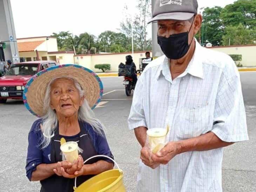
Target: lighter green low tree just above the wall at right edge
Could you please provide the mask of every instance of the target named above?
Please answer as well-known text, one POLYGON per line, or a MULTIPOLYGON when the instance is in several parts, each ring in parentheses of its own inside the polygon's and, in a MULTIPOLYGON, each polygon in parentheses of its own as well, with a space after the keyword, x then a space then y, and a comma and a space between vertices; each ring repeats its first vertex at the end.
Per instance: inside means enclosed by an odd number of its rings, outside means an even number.
POLYGON ((248 29, 245 28, 242 23, 237 26, 228 26, 226 34, 222 37, 223 45, 248 45, 254 44, 256 39, 256 28, 248 29))

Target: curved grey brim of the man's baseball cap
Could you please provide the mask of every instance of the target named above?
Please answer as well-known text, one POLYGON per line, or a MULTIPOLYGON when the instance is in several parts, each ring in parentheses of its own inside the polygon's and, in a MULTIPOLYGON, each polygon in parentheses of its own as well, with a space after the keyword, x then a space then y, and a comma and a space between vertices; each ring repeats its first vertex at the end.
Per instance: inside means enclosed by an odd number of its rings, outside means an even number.
POLYGON ((178 21, 186 21, 191 19, 195 13, 183 13, 183 12, 176 12, 176 13, 163 13, 156 15, 153 17, 149 22, 152 23, 154 21, 159 21, 159 20, 178 20, 178 21))

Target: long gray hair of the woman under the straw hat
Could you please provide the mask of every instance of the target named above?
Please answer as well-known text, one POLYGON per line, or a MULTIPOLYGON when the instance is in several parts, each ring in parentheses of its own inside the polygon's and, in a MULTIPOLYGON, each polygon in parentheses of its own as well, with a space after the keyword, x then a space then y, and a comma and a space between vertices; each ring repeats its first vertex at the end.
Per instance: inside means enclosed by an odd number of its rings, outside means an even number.
MULTIPOLYGON (((43 109, 47 112, 46 112, 46 115, 42 117, 42 119, 43 119, 42 125, 40 126, 42 133, 43 133, 41 143, 40 143, 40 147, 42 149, 46 148, 50 144, 51 138, 54 136, 54 131, 58 125, 58 119, 56 116, 56 112, 50 108, 50 91, 51 91, 52 83, 55 80, 60 79, 60 78, 67 78, 67 79, 72 80, 75 84, 75 87, 79 90, 80 97, 85 96, 85 91, 82 90, 80 84, 76 80, 74 80, 72 77, 57 77, 57 78, 53 79, 52 81, 50 81, 50 83, 48 84, 47 89, 46 89, 44 106, 43 106, 43 109)), ((93 130, 97 134, 99 134, 101 136, 104 135, 103 130, 105 129, 105 127, 100 122, 100 120, 95 117, 95 114, 92 111, 92 109, 90 108, 90 106, 88 105, 88 102, 86 99, 78 110, 78 119, 80 121, 85 121, 90 126, 92 126, 93 130)))

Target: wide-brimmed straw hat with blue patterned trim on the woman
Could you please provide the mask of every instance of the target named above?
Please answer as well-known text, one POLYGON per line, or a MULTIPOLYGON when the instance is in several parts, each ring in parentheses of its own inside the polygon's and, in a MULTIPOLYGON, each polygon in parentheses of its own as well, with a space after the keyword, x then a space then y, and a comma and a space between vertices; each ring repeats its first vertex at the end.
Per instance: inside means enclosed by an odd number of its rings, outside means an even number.
POLYGON ((103 85, 99 76, 79 65, 58 65, 40 71, 25 86, 23 102, 33 115, 37 117, 46 115, 46 111, 43 110, 46 88, 51 80, 58 77, 71 77, 76 80, 85 90, 85 99, 92 109, 100 102, 103 85))

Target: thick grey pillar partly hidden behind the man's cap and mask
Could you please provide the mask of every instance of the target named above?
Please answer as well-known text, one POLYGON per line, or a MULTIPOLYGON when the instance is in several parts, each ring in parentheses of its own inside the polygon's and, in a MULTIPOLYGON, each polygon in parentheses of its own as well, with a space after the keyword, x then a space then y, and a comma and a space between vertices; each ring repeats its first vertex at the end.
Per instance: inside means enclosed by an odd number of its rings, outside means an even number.
MULTIPOLYGON (((151 0, 152 4, 152 15, 155 7, 156 0, 151 0)), ((152 55, 153 57, 160 57, 163 55, 161 47, 157 43, 157 23, 152 23, 152 55)))

